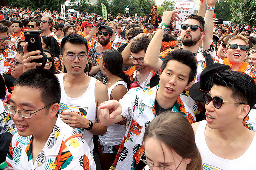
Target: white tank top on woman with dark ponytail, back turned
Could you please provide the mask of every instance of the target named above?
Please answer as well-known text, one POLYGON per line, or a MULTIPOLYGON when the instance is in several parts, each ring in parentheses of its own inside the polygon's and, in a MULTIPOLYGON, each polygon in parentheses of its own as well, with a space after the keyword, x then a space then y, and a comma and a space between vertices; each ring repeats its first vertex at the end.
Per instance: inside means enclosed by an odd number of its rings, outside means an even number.
MULTIPOLYGON (((110 99, 110 94, 111 94, 113 88, 119 84, 124 85, 127 89, 126 82, 124 82, 122 80, 117 81, 115 84, 113 84, 111 87, 108 88, 108 100, 110 99)), ((110 125, 110 126, 108 126, 108 129, 107 129, 107 132, 105 133, 105 135, 103 135, 103 136, 99 135, 99 141, 103 145, 107 145, 107 146, 119 145, 124 138, 125 132, 126 132, 125 124, 124 125, 118 125, 118 124, 110 125)))

